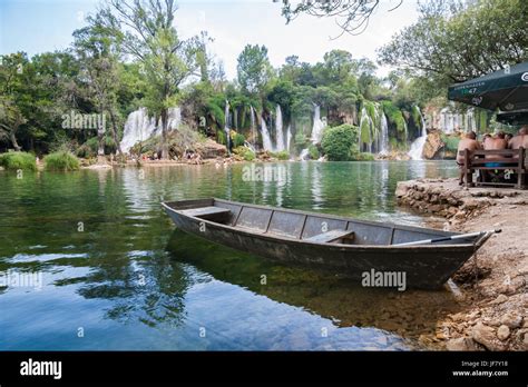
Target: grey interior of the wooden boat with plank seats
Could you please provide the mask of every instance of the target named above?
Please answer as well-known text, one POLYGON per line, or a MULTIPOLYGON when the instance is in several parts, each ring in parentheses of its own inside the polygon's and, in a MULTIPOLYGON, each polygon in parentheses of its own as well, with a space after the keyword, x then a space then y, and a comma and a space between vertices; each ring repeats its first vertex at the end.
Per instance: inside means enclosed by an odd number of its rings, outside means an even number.
MULTIPOLYGON (((390 246, 456 235, 436 229, 364 221, 213 198, 174 201, 166 205, 182 215, 218 225, 317 244, 390 246)), ((473 237, 436 245, 467 245, 475 240, 473 237)))

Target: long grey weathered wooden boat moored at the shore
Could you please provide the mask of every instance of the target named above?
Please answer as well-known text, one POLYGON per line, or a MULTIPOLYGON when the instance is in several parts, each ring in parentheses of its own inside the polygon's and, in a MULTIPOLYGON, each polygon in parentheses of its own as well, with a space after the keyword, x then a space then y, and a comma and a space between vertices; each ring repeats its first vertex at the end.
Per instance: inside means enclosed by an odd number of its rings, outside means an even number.
POLYGON ((365 272, 403 272, 407 287, 439 288, 491 236, 457 239, 456 232, 214 198, 162 205, 186 232, 283 264, 331 270, 360 284, 365 272), (436 238, 441 241, 398 246, 436 238))

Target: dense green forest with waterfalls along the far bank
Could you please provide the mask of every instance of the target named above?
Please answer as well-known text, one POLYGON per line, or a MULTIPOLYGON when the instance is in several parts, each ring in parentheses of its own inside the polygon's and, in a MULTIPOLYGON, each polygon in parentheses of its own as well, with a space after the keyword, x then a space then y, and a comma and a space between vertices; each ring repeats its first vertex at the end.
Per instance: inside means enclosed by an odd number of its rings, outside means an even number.
MULTIPOLYGON (((247 44, 236 79, 227 80, 208 52, 214 37, 179 38, 174 1, 109 0, 74 32, 70 47, 1 56, 0 151, 121 153, 127 117, 140 107, 159 122, 154 142, 162 158, 206 137, 232 149, 307 150, 311 158, 332 153, 341 140, 353 151, 336 151, 335 159, 404 151, 422 133, 421 111, 447 103, 447 86, 527 60, 527 9, 522 0, 421 4, 418 22, 379 49, 378 64, 399 69, 385 78, 375 76, 377 63, 344 50, 317 63, 292 52, 274 68, 273 48, 247 44), (177 133, 169 130, 174 107, 183 122, 177 133), (314 133, 315 120, 330 128, 326 140, 314 133)), ((292 23, 295 13, 316 11, 332 16, 331 9, 283 8, 292 23)), ((479 127, 491 123, 483 113, 479 127)))

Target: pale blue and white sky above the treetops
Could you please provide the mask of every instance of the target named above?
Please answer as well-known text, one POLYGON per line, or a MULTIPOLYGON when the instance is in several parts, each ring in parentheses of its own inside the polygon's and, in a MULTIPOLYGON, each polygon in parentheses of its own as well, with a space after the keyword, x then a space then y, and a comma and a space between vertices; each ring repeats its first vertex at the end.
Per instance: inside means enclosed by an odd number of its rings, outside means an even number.
MULTIPOLYGON (((0 0, 0 54, 26 51, 29 56, 67 48, 71 32, 86 23, 100 0, 0 0)), ((214 39, 209 52, 223 61, 228 79, 236 77, 236 58, 247 43, 265 44, 274 67, 286 57, 315 63, 332 49, 354 58, 377 59, 375 50, 418 19, 417 0, 382 0, 360 36, 340 34, 331 18, 301 16, 290 24, 281 16, 281 1, 273 0, 180 0, 176 28, 182 38, 207 31, 214 39)), ((379 76, 391 69, 380 67, 379 76)))

